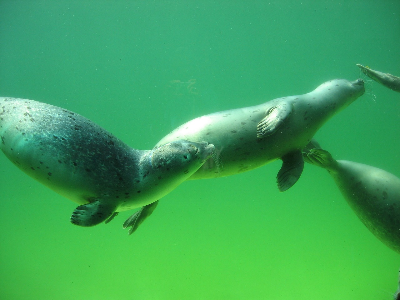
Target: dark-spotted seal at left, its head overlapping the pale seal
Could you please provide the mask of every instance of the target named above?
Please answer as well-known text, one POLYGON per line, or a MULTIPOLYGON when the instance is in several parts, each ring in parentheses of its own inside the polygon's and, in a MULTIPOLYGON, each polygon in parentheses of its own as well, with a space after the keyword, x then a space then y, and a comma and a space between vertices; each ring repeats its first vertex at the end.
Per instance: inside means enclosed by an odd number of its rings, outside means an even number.
POLYGON ((71 216, 80 226, 111 220, 120 211, 155 207, 214 150, 208 142, 187 140, 152 150, 133 149, 79 114, 4 97, 0 136, 1 150, 18 168, 80 204, 71 216))

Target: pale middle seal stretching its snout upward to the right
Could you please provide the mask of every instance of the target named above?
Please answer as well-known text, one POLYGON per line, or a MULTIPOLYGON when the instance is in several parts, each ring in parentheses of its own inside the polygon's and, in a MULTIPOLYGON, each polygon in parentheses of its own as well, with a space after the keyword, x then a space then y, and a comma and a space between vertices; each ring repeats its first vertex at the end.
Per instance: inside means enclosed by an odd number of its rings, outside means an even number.
POLYGON ((277 181, 284 191, 300 177, 304 146, 329 118, 363 93, 362 80, 330 80, 308 94, 201 116, 164 136, 156 147, 182 138, 214 144, 218 159, 207 160, 189 179, 246 172, 280 158, 277 181))

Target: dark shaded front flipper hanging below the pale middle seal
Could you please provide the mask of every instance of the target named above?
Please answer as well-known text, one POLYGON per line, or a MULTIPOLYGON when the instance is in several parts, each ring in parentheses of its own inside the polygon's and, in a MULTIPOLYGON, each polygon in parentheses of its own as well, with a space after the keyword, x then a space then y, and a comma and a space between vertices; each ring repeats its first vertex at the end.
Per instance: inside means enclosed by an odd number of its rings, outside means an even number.
POLYGON ((276 176, 278 189, 280 192, 286 191, 300 178, 304 168, 303 155, 300 150, 290 152, 281 157, 282 168, 276 176))

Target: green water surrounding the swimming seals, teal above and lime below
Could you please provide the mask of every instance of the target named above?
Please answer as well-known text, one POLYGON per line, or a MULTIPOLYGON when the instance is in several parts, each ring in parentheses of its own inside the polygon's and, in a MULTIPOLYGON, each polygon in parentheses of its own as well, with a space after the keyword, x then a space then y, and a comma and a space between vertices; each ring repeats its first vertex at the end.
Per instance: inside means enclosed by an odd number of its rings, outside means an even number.
MULTIPOLYGON (((0 95, 61 106, 150 149, 198 116, 400 76, 399 1, 0 1, 0 95)), ((377 83, 316 134, 400 176, 400 94, 377 83), (374 96, 372 96, 372 94, 374 96)), ((181 184, 128 236, 0 155, 2 300, 389 300, 400 256, 325 170, 278 192, 280 161, 181 184)))

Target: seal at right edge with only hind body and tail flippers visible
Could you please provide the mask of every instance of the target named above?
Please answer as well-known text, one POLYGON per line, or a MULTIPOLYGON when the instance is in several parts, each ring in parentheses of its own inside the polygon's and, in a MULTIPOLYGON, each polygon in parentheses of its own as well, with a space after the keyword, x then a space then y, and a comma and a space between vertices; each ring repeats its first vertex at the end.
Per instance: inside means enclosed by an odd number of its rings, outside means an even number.
POLYGON ((311 149, 304 151, 304 159, 328 170, 361 222, 386 246, 400 253, 400 178, 365 164, 334 160, 315 141, 307 148, 311 149))

